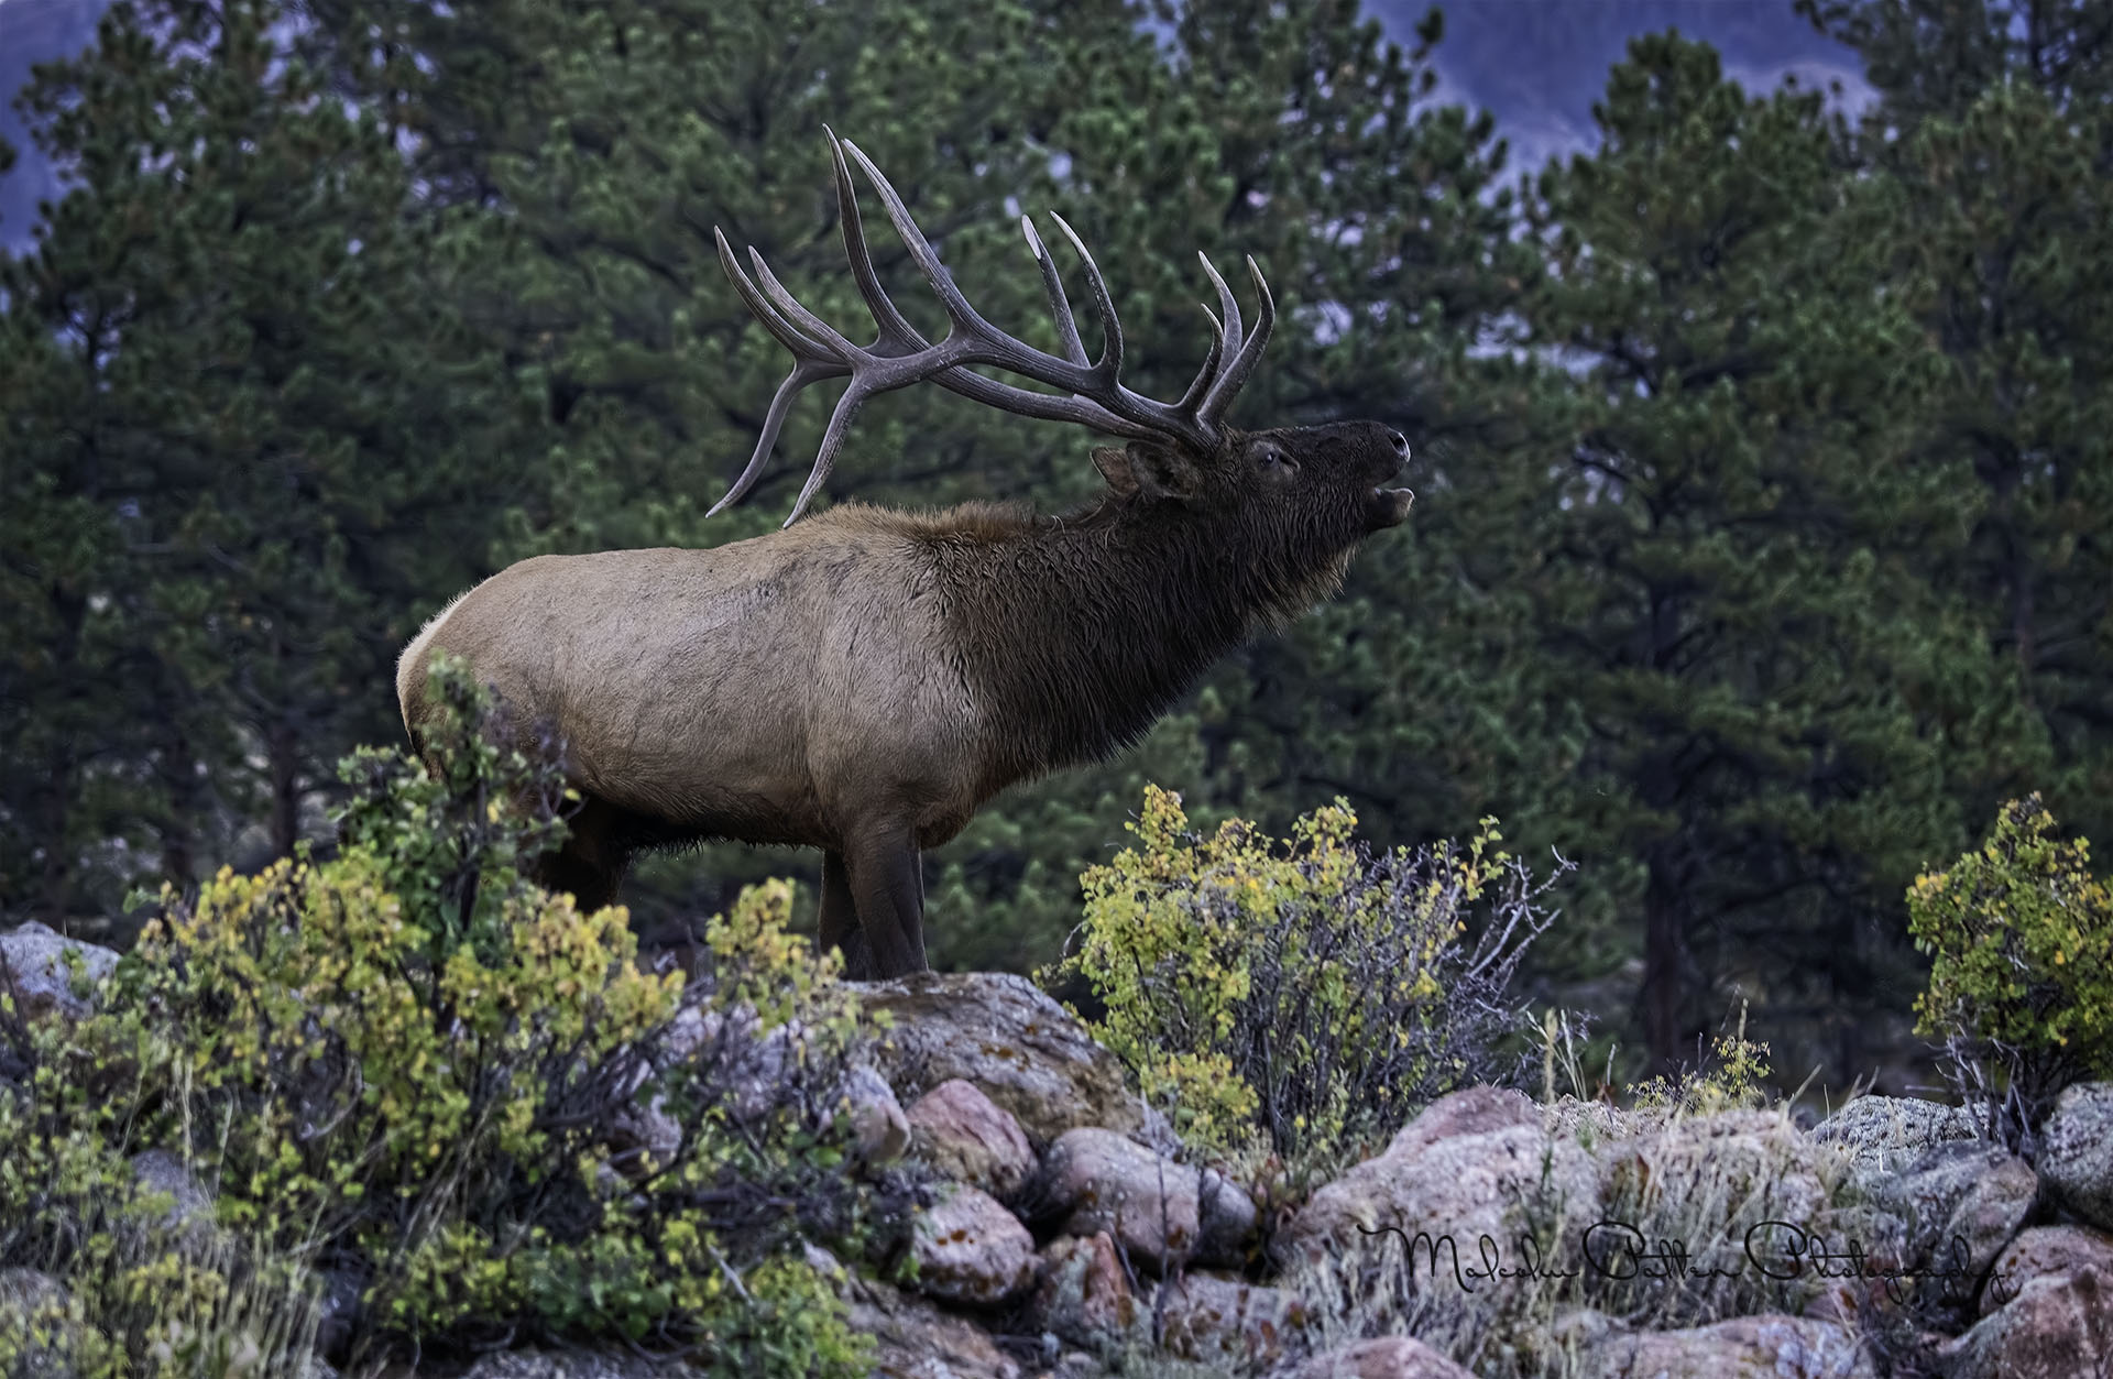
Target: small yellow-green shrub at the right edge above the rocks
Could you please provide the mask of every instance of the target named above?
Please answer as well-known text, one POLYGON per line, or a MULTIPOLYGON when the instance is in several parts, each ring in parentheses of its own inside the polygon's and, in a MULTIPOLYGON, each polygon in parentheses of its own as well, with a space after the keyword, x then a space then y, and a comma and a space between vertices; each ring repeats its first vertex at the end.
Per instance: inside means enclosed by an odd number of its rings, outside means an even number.
POLYGON ((2037 794, 1914 879, 1908 929, 1931 955, 1916 1031, 1950 1045, 1999 1134, 2016 1142, 2064 1085, 2113 1077, 2113 891, 2037 794))

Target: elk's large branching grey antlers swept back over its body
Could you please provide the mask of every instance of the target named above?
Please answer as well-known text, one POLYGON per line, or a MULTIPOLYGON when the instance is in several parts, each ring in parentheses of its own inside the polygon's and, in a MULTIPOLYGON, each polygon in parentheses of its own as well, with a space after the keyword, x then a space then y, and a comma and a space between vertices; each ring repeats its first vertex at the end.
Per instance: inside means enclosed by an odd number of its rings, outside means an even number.
POLYGON ((1264 281, 1261 268, 1255 266, 1253 258, 1247 260, 1247 272, 1255 279, 1261 313, 1255 329, 1242 336, 1240 306, 1232 296, 1232 287, 1217 275, 1209 258, 1202 253, 1196 256, 1217 287, 1219 313, 1223 315, 1213 315, 1204 306, 1204 315, 1211 317, 1211 353, 1196 380, 1181 395, 1181 401, 1171 405, 1152 401, 1122 386, 1118 378, 1122 370, 1122 323, 1116 319, 1116 304, 1109 298, 1101 268, 1092 262, 1092 253, 1086 251, 1086 245, 1071 232, 1063 215, 1052 211, 1050 220, 1071 241, 1071 249, 1078 253, 1080 264, 1084 264, 1092 304, 1101 315, 1101 357, 1092 363, 1086 363, 1086 346, 1078 338, 1078 323, 1071 319, 1071 302, 1065 298, 1056 260, 1050 258, 1048 245, 1035 234, 1035 226, 1027 215, 1021 215, 1021 230, 1027 234, 1027 247, 1042 268, 1042 287, 1056 319, 1056 338, 1065 351, 1063 357, 1014 340, 985 321, 968 304, 968 298, 961 296, 961 289, 953 285, 953 279, 947 277, 938 253, 932 249, 932 241, 911 220, 909 207, 902 205, 902 196, 881 175, 881 169, 849 139, 839 139, 828 129, 824 133, 828 133, 828 152, 837 167, 837 209, 843 222, 843 249, 852 260, 852 277, 858 281, 858 291, 866 300, 866 308, 873 313, 873 321, 881 334, 871 346, 852 344, 835 327, 801 306, 754 247, 748 249, 748 262, 756 272, 752 281, 735 262, 727 237, 716 226, 712 228, 712 239, 718 241, 718 264, 733 279, 733 289, 742 294, 742 302, 763 321, 763 327, 792 351, 794 359, 792 372, 786 374, 786 380, 778 384, 775 397, 771 397, 771 408, 763 418, 763 435, 756 439, 756 452, 748 458, 748 469, 733 481, 727 496, 712 505, 712 513, 740 503, 754 488, 756 477, 763 473, 763 462, 771 454, 771 446, 778 443, 778 431, 784 427, 786 412, 792 410, 792 397, 807 384, 824 378, 849 376, 852 384, 837 399, 837 410, 822 433, 822 448, 814 458, 814 471, 807 475, 807 484, 792 505, 792 515, 784 522, 786 526, 799 522, 799 515, 807 511, 807 503, 822 488, 822 481, 828 479, 828 471, 837 465, 837 450, 843 446, 843 433, 852 424, 852 414, 858 412, 860 403, 875 393, 892 393, 925 378, 961 397, 1018 416, 1082 422, 1097 431, 1137 439, 1179 439, 1198 448, 1211 448, 1219 441, 1226 408, 1240 391, 1240 384, 1247 382, 1255 361, 1261 359, 1261 351, 1270 342, 1270 329, 1276 325, 1276 302, 1270 298, 1270 285, 1264 281), (917 334, 917 327, 896 310, 896 304, 881 289, 881 277, 875 272, 873 256, 866 249, 866 230, 858 215, 858 194, 852 186, 852 169, 845 163, 845 154, 873 182, 873 190, 879 192, 881 205, 887 207, 887 220, 894 224, 896 234, 902 237, 911 258, 917 260, 917 268, 923 270, 932 291, 938 294, 940 304, 947 308, 947 338, 938 344, 917 334), (1232 340, 1238 340, 1238 344, 1228 348, 1232 340), (1010 374, 1059 386, 1069 397, 1016 389, 1008 382, 985 378, 966 367, 972 363, 995 365, 1010 374))

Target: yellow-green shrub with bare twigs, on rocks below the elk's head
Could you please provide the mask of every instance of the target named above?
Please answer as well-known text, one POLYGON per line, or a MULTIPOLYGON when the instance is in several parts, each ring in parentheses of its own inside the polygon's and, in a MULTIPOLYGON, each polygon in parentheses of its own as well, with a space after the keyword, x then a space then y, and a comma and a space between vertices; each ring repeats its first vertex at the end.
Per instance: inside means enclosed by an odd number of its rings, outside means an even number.
POLYGON ((1338 802, 1289 840, 1238 819, 1204 838, 1179 796, 1147 788, 1139 847, 1082 879, 1086 919, 1056 976, 1086 978, 1107 1009, 1097 1037, 1204 1149, 1259 1132, 1287 1161, 1325 1164, 1507 1071, 1507 986, 1553 919, 1538 904, 1553 879, 1494 851, 1494 819, 1464 847, 1384 857, 1354 826, 1338 802))

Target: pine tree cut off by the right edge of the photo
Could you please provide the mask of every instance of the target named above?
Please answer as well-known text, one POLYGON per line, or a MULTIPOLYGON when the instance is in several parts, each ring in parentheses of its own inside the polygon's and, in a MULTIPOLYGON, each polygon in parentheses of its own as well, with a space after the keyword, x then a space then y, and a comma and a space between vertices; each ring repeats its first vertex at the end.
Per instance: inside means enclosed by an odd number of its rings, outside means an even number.
MULTIPOLYGON (((1925 462, 1978 494, 1963 560, 2054 760, 2031 783, 2113 830, 2113 6, 2102 0, 1805 0, 1857 46, 1878 103, 1859 158, 1891 192, 1868 234, 1950 361, 1925 462)), ((2020 762, 2026 764, 2026 762, 2020 762)), ((1976 800, 1986 817, 1988 788, 1976 800)))

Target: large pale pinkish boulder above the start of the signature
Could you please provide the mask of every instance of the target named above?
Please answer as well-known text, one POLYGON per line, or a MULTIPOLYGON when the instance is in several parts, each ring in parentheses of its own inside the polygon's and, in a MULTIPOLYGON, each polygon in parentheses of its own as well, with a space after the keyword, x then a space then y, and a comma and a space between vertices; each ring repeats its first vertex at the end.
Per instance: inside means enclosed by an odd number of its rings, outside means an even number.
POLYGON ((1515 1092, 1469 1088, 1439 1098, 1380 1157, 1316 1191, 1283 1229, 1278 1252, 1325 1263, 1428 1231, 1441 1248, 1450 1235, 1469 1265, 1490 1235, 1515 1265, 1523 1214, 1568 1229, 1600 1197, 1597 1164, 1574 1140, 1549 1136, 1540 1119, 1515 1092))

